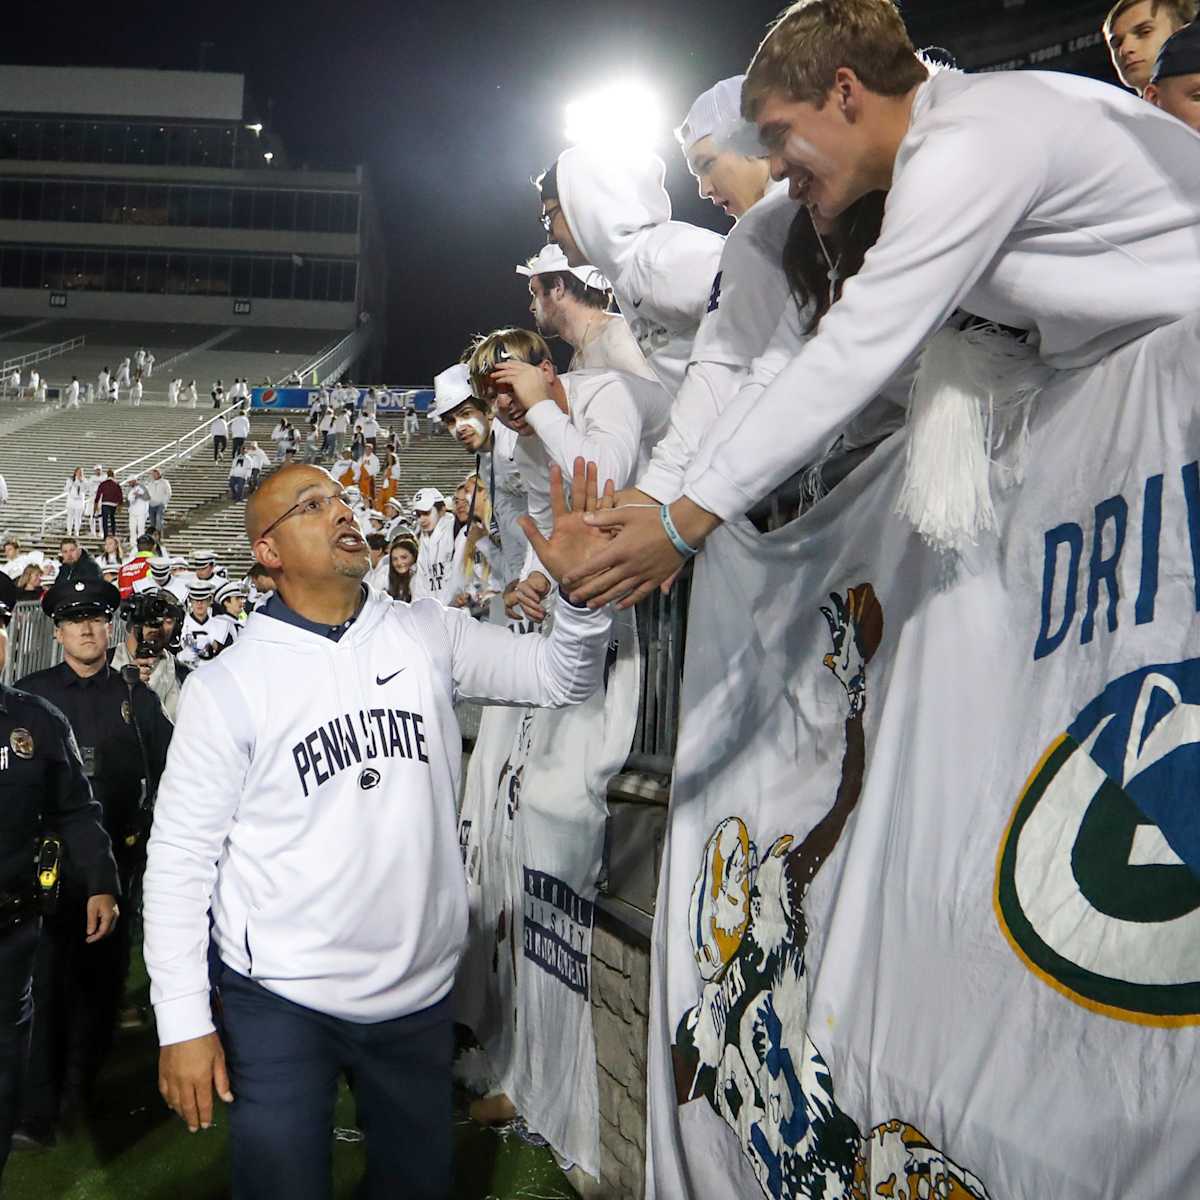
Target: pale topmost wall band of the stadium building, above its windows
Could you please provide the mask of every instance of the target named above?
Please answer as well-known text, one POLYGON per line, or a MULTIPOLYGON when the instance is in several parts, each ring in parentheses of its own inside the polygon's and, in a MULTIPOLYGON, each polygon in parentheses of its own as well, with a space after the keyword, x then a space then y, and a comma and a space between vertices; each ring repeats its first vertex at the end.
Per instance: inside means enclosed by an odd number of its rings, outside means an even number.
POLYGON ((215 71, 0 66, 0 113, 240 121, 245 89, 215 71))

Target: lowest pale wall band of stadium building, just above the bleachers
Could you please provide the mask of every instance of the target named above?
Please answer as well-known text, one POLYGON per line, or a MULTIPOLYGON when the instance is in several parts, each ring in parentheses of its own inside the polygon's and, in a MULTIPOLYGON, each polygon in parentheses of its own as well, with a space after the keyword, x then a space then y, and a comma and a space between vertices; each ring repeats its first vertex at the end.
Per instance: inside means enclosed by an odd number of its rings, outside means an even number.
POLYGON ((67 292, 66 295, 65 308, 52 308, 49 292, 0 288, 0 317, 86 317, 168 325, 281 325, 347 331, 355 322, 353 304, 324 300, 253 300, 248 316, 235 317, 233 296, 170 296, 146 292, 67 292))

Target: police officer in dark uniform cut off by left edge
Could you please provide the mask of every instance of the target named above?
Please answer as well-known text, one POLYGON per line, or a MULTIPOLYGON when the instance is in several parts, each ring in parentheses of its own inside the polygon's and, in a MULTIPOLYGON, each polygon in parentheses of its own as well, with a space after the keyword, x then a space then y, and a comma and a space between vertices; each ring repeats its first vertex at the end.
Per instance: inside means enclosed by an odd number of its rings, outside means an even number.
MULTIPOLYGON (((0 668, 16 598, 16 584, 0 575, 0 668)), ((0 1174, 29 1054, 34 956, 42 910, 54 898, 59 844, 86 896, 72 936, 98 942, 118 919, 116 864, 71 727, 44 700, 0 683, 0 1174)))

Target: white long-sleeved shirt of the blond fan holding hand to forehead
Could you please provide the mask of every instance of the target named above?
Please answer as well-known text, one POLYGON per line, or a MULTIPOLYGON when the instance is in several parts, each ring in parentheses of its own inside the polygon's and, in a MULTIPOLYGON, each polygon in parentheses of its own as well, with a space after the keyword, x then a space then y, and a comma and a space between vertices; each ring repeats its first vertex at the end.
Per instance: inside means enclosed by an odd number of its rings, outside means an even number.
MULTIPOLYGON (((612 480, 619 491, 631 484, 650 457, 671 418, 671 397, 655 380, 619 371, 574 371, 559 376, 566 392, 564 413, 552 400, 534 404, 526 421, 534 437, 517 442, 516 464, 524 480, 529 516, 544 535, 550 511, 550 468, 569 482, 575 460, 596 464, 602 492, 612 480)), ((530 547, 524 574, 538 566, 530 547)))

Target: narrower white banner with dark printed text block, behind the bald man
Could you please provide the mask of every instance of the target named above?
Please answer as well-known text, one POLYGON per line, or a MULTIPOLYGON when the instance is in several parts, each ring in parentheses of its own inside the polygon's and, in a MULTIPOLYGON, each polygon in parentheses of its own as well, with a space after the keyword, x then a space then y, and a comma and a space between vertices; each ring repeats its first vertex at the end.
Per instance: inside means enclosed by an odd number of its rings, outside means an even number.
POLYGON ((469 932, 458 1019, 530 1129, 600 1174, 592 930, 608 780, 629 755, 640 660, 616 614, 605 688, 574 708, 487 710, 458 822, 469 932))

